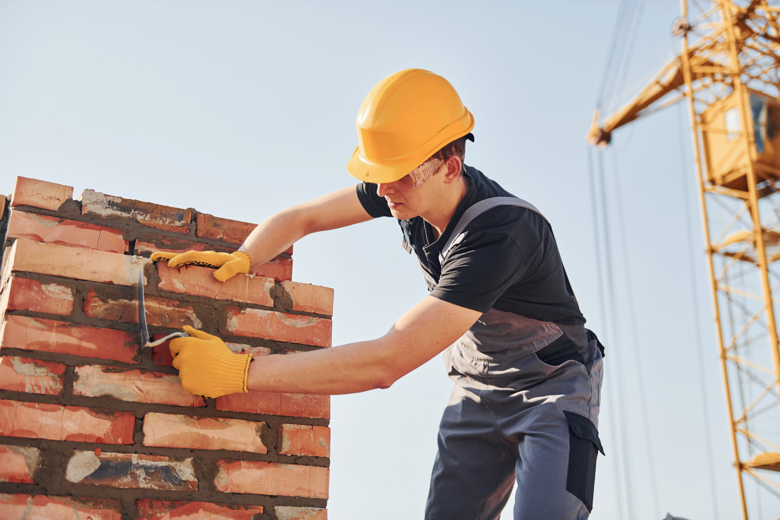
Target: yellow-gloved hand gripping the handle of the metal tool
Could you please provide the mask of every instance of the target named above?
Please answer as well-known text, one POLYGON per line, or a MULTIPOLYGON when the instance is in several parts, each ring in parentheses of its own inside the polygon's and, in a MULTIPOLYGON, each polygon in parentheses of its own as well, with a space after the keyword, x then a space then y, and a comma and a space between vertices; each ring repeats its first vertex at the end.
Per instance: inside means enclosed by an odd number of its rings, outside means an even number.
POLYGON ((231 352, 221 339, 189 325, 183 330, 190 338, 172 339, 171 355, 186 391, 203 398, 248 391, 246 374, 251 354, 231 352))

